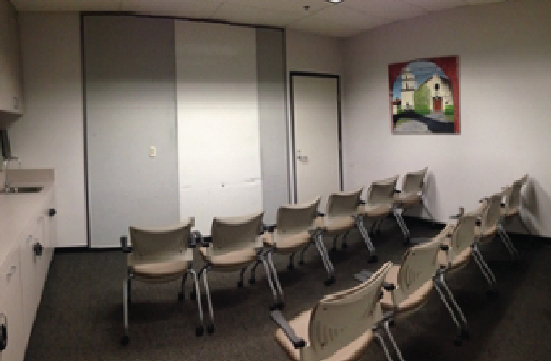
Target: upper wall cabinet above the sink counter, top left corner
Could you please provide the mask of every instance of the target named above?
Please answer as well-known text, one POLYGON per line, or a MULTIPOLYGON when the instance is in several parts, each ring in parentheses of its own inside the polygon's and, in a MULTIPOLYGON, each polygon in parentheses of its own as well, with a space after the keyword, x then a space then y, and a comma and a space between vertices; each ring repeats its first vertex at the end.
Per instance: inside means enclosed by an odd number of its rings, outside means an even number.
POLYGON ((0 0, 0 111, 22 114, 21 56, 17 12, 0 0))

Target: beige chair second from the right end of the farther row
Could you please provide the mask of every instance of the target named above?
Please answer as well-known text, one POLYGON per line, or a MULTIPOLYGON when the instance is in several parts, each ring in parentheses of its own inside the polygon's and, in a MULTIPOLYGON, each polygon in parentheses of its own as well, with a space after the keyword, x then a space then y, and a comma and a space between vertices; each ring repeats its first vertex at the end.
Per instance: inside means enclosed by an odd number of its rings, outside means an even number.
POLYGON ((367 190, 365 205, 360 212, 364 215, 366 220, 371 220, 373 222, 371 227, 372 230, 375 229, 375 227, 380 229, 384 219, 392 213, 404 235, 404 244, 409 244, 409 230, 396 207, 396 200, 394 198, 397 182, 397 175, 372 182, 367 190))

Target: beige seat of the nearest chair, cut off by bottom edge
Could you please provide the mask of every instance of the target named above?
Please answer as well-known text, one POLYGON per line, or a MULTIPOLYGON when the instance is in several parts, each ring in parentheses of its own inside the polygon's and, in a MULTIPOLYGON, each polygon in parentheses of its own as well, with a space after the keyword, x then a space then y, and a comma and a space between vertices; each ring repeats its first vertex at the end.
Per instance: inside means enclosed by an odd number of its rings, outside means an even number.
MULTIPOLYGON (((310 344, 308 339, 308 325, 312 310, 304 311, 297 317, 289 321, 289 325, 295 331, 296 335, 306 341, 306 345, 310 344)), ((276 341, 283 347, 289 355, 289 358, 295 361, 300 361, 300 349, 296 349, 291 341, 285 335, 282 329, 278 329, 275 333, 276 341)), ((333 356, 323 359, 323 361, 360 361, 363 359, 366 349, 373 341, 373 332, 371 329, 366 330, 354 342, 337 351, 333 356)))

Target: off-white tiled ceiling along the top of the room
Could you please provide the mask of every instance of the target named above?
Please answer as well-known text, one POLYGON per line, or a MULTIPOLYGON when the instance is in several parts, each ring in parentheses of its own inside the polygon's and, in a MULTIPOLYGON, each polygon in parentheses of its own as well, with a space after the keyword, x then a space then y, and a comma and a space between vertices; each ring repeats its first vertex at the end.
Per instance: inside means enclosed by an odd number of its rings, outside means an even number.
MULTIPOLYGON (((134 11, 348 37, 433 11, 507 0, 11 0, 19 11, 134 11)), ((515 1, 515 0, 509 0, 515 1)))

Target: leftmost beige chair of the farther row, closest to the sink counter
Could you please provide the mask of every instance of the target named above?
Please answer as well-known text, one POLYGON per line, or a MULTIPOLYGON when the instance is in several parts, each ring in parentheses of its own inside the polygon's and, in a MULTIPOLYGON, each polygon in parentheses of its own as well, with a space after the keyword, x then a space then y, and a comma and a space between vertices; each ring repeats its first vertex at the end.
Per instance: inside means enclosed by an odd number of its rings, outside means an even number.
MULTIPOLYGON (((121 237, 123 252, 127 253, 127 276, 123 282, 124 336, 123 345, 130 341, 128 334, 128 311, 131 302, 132 280, 146 283, 173 282, 182 277, 182 289, 178 295, 184 299, 184 286, 188 274, 193 277, 195 294, 199 293, 197 274, 192 268, 193 247, 198 238, 191 232, 194 219, 189 218, 181 224, 166 228, 129 227, 131 246, 126 236, 121 237)), ((201 297, 196 297, 199 311, 199 324, 196 335, 203 334, 203 311, 201 297)))

